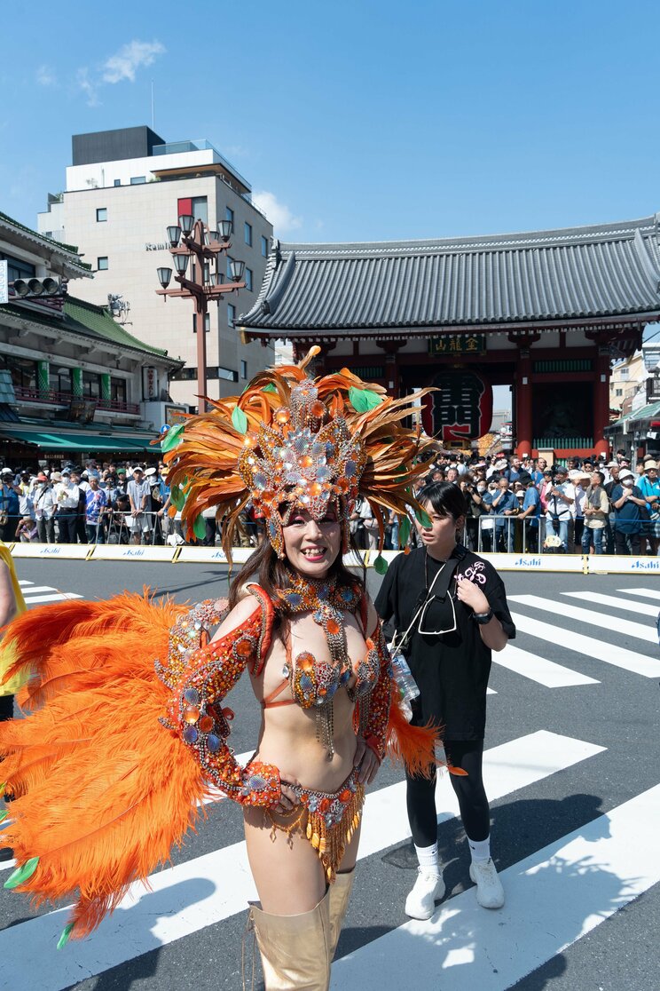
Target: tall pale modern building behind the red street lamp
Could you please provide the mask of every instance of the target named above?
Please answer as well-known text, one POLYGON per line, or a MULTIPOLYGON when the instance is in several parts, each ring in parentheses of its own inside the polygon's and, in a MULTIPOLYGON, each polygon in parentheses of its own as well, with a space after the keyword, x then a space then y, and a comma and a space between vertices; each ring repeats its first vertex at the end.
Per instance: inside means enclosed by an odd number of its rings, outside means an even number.
POLYGON ((77 245, 91 264, 94 279, 82 286, 83 298, 107 305, 109 296, 120 296, 125 325, 136 337, 181 356, 185 367, 170 383, 172 399, 197 405, 192 300, 165 303, 156 294, 156 269, 172 267, 166 228, 182 214, 211 228, 231 220, 228 267, 232 259, 245 264, 246 287, 222 296, 207 314, 207 394, 236 393, 271 365, 272 346, 241 343, 234 326, 254 305, 272 237, 236 168, 207 141, 166 143, 147 127, 74 135, 72 162, 64 191, 50 194, 39 214, 39 231, 77 245))

